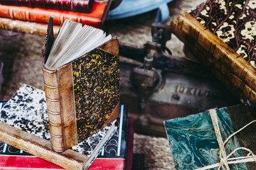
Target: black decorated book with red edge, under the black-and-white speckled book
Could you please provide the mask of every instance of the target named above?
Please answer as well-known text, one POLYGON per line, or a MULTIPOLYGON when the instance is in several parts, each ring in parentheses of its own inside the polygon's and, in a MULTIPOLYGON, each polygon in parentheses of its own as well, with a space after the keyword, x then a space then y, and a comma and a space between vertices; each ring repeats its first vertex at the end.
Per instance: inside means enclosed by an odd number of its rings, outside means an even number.
MULTIPOLYGON (((2 106, 4 106, 4 102, 0 102, 0 108, 2 106)), ((119 128, 107 145, 102 148, 102 152, 92 163, 89 170, 132 169, 133 134, 133 119, 127 117, 127 107, 121 105, 119 128)), ((63 168, 0 142, 0 169, 59 170, 63 168)))

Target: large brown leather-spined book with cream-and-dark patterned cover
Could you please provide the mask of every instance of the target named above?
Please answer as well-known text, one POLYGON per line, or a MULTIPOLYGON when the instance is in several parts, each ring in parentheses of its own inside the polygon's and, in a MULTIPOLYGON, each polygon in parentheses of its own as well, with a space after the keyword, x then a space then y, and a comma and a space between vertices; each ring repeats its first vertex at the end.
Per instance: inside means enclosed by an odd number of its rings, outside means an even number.
POLYGON ((254 13, 247 1, 205 1, 171 22, 171 32, 187 51, 234 94, 252 103, 256 103, 254 13))

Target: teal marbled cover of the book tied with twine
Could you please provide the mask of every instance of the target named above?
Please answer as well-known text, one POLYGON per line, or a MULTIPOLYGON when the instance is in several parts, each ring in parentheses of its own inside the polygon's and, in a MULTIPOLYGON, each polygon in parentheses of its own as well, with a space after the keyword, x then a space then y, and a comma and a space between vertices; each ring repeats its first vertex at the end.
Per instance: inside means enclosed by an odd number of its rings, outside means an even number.
MULTIPOLYGON (((234 132, 233 123, 230 119, 228 108, 219 108, 216 112, 221 136, 224 141, 234 132)), ((188 115, 183 118, 166 120, 164 126, 176 170, 198 169, 220 162, 220 149, 209 111, 188 115)), ((232 137, 225 144, 225 151, 228 155, 238 147, 240 147, 238 138, 232 137)), ((233 157, 241 156, 242 152, 240 150, 233 154, 233 157)), ((247 169, 247 166, 245 163, 230 164, 230 169, 244 170, 247 169)))

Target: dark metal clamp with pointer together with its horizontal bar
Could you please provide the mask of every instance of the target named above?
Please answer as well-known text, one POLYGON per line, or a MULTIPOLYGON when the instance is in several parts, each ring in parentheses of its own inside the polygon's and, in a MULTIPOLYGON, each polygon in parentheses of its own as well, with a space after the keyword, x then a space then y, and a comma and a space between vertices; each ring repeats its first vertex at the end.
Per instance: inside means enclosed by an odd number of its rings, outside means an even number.
POLYGON ((174 57, 166 47, 166 41, 171 39, 169 26, 153 23, 151 27, 152 41, 146 42, 143 47, 127 45, 120 42, 120 55, 132 58, 143 64, 132 69, 130 80, 134 90, 139 95, 139 108, 146 106, 146 100, 159 89, 163 83, 161 72, 169 70, 183 74, 208 75, 203 66, 181 57, 174 57))

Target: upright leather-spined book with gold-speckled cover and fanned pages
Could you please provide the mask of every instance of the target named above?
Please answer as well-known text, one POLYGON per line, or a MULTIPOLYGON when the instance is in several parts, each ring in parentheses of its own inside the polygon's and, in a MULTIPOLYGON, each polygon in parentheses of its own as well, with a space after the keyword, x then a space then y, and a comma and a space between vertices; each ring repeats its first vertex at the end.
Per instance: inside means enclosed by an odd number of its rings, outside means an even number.
POLYGON ((117 38, 65 21, 55 40, 52 21, 42 63, 53 149, 82 142, 119 115, 117 38))

